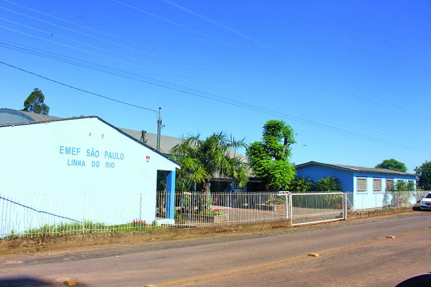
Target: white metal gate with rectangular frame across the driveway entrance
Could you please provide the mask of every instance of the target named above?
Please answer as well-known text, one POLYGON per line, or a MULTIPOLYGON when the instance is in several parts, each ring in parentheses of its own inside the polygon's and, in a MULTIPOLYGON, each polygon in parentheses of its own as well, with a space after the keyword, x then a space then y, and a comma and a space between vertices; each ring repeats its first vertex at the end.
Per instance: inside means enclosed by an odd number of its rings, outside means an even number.
POLYGON ((288 197, 287 218, 292 225, 347 220, 345 192, 281 193, 288 197))

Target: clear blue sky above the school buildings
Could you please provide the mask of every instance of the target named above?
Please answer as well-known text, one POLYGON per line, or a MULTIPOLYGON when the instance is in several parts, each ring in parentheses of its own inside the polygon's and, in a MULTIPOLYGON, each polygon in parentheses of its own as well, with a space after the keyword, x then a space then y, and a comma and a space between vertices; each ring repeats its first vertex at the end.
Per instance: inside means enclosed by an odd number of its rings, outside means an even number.
MULTIPOLYGON (((162 0, 121 0, 147 13, 113 0, 0 0, 1 7, 33 17, 0 9, 0 26, 9 29, 0 28, 0 39, 199 90, 200 95, 250 103, 277 115, 3 47, 1 61, 103 96, 155 110, 160 106, 165 135, 207 136, 224 130, 253 142, 260 139, 266 120, 282 119, 297 133, 295 163, 372 167, 396 158, 412 171, 431 160, 431 2, 173 1, 246 37, 162 0)), ((157 131, 152 112, 4 65, 0 83, 1 107, 22 108, 38 87, 51 115, 98 115, 120 127, 157 131)))

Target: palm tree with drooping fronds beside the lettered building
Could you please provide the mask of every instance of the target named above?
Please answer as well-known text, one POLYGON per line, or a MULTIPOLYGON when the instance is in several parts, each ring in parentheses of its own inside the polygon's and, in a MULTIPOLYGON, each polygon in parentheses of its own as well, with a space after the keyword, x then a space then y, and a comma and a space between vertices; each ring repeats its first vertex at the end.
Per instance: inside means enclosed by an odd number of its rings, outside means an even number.
POLYGON ((171 156, 181 165, 177 173, 177 188, 189 191, 192 184, 209 192, 214 173, 227 176, 242 187, 248 182, 248 168, 232 149, 246 147, 244 140, 236 141, 225 132, 214 133, 205 140, 200 135, 182 139, 171 150, 171 156))

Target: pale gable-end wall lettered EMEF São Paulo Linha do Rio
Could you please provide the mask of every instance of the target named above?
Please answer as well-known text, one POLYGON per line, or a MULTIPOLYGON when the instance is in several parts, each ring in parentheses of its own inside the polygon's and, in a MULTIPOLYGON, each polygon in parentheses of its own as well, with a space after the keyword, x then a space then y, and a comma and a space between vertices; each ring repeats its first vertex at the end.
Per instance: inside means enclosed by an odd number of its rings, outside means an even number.
MULTIPOLYGON (((139 218, 140 210, 141 218, 151 222, 157 170, 176 167, 97 118, 0 127, 0 159, 3 197, 36 210, 76 220, 85 214, 85 219, 109 224, 139 218), (92 156, 92 150, 99 156, 92 156), (73 166, 79 161, 80 166, 73 166)), ((28 228, 30 220, 34 227, 43 220, 40 216, 47 216, 15 208, 17 219, 12 221, 21 222, 20 229, 23 222, 28 228)))

